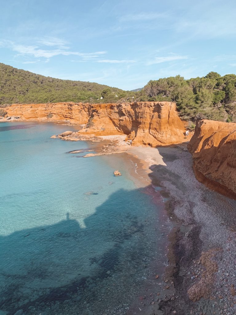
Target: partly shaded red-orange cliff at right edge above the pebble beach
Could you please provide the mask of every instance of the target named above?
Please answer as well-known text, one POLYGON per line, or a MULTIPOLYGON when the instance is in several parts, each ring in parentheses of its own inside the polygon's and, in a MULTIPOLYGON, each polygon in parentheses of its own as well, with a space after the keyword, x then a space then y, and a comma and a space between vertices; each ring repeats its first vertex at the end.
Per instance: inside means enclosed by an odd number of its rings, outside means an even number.
POLYGON ((197 179, 236 198, 236 123, 201 120, 188 144, 197 179))

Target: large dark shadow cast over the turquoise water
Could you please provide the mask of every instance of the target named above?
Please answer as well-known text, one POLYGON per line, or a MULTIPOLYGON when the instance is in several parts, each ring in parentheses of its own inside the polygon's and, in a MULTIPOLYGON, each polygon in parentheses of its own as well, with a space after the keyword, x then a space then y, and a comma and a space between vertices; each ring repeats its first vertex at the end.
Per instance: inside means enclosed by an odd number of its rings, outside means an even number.
POLYGON ((134 285, 137 290, 157 252, 158 211, 152 201, 160 203, 160 195, 151 185, 121 189, 84 219, 84 228, 67 213, 56 224, 0 236, 0 310, 31 314, 40 307, 50 314, 76 305, 87 314, 87 302, 95 304, 102 293, 108 305, 122 303, 121 288, 126 298, 134 285), (104 281, 116 275, 115 285, 104 289, 104 281))

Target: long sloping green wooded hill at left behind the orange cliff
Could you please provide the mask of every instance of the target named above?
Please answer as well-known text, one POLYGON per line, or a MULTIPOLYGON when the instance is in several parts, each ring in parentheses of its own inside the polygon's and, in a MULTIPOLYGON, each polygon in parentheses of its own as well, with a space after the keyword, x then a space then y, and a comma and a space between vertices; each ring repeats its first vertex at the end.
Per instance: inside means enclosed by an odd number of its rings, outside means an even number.
POLYGON ((95 102, 102 95, 115 101, 125 94, 107 85, 44 77, 0 63, 0 104, 95 102))

